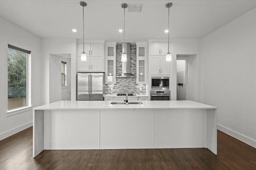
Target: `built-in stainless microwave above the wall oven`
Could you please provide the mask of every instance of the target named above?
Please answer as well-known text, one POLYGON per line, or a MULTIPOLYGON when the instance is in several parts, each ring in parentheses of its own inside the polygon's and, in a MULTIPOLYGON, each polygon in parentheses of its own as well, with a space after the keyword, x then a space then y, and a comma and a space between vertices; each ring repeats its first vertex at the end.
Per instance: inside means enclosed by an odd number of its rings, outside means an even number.
POLYGON ((151 77, 151 90, 169 89, 169 77, 151 77))

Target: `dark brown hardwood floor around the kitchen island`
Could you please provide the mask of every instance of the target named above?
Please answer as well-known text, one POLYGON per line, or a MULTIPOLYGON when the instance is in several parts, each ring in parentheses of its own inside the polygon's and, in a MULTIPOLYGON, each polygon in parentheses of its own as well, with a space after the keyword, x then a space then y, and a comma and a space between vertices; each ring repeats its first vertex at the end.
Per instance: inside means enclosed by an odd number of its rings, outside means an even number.
POLYGON ((0 141, 0 170, 256 170, 256 149, 218 131, 205 148, 44 150, 32 158, 32 127, 0 141))

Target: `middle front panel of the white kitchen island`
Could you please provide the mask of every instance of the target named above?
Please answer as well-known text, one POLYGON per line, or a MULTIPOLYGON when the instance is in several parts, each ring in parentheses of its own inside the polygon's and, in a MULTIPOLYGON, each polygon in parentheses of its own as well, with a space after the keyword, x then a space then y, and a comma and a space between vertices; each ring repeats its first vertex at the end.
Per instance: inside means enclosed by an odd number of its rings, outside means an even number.
POLYGON ((154 144, 152 109, 106 109, 100 112, 100 149, 148 149, 154 144))

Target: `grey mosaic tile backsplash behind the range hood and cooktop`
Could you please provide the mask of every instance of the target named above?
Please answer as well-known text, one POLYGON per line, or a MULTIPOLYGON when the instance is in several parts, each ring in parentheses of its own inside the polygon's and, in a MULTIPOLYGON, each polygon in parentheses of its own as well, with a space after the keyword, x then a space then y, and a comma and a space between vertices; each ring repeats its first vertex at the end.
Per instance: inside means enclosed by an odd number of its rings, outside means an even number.
MULTIPOLYGON (((116 75, 122 73, 122 45, 116 46, 116 75)), ((136 45, 130 46, 131 73, 136 75, 136 45)), ((116 84, 106 84, 106 94, 124 93, 146 94, 146 84, 136 84, 136 78, 116 78, 116 84), (111 91, 111 88, 113 90, 111 91), (142 91, 140 91, 140 88, 142 91)))

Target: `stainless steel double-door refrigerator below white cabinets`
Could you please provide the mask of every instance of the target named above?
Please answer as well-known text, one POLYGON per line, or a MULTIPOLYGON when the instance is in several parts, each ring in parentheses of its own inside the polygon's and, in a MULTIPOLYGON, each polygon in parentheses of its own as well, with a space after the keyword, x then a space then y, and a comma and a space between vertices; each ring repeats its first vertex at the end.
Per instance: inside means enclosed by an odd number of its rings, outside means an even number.
POLYGON ((104 72, 78 72, 76 84, 76 100, 104 100, 104 72))

